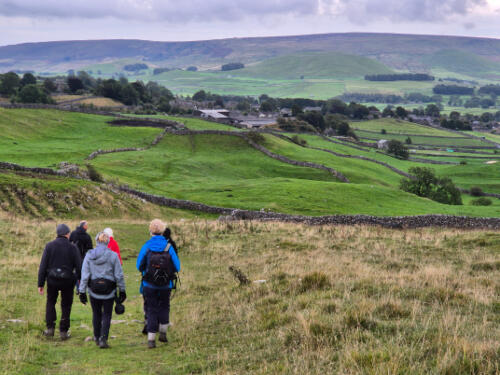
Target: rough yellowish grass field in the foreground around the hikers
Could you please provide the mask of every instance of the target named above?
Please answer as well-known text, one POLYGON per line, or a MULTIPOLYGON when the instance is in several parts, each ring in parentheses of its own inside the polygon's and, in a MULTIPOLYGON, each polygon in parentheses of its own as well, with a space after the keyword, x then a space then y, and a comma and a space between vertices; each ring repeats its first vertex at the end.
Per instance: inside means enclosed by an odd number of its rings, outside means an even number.
MULTIPOLYGON (((182 285, 169 343, 146 348, 135 259, 153 217, 107 216, 124 259, 126 312, 111 349, 75 299, 67 342, 43 339, 36 273, 55 222, 0 213, 3 374, 496 374, 500 243, 492 231, 307 227, 165 216, 182 285), (233 266, 251 281, 239 285, 233 266), (8 321, 14 319, 14 322, 8 321)), ((57 221, 59 222, 59 221, 57 221)), ((72 227, 78 218, 67 221, 72 227)), ((58 310, 59 311, 59 310, 58 310)))

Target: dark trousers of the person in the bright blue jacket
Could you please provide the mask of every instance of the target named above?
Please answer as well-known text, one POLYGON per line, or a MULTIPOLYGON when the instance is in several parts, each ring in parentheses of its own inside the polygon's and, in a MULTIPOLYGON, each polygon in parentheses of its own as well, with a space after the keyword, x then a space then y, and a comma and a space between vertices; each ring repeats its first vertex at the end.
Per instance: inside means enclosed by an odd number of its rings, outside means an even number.
POLYGON ((148 332, 156 333, 159 324, 170 323, 170 292, 144 287, 148 332))

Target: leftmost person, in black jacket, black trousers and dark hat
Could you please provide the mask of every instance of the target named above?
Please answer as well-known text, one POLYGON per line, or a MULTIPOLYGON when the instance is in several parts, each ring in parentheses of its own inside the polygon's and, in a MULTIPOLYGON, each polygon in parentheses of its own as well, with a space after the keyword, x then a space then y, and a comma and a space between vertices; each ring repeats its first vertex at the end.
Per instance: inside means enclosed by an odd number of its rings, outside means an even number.
POLYGON ((61 292, 61 320, 59 333, 62 340, 69 338, 71 306, 73 305, 73 288, 80 279, 82 259, 80 252, 69 242, 70 229, 66 224, 59 224, 56 229, 57 238, 49 242, 43 251, 38 269, 38 293, 43 295, 47 280, 47 306, 45 322, 47 329, 44 336, 54 336, 56 325, 56 303, 61 292))

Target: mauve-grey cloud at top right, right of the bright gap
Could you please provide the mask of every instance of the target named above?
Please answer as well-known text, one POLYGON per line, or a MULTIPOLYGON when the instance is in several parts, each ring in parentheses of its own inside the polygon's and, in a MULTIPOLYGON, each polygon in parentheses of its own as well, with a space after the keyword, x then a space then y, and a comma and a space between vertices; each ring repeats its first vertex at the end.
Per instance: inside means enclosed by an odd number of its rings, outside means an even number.
POLYGON ((466 15, 486 0, 324 0, 336 14, 356 23, 379 20, 394 22, 438 22, 466 15))

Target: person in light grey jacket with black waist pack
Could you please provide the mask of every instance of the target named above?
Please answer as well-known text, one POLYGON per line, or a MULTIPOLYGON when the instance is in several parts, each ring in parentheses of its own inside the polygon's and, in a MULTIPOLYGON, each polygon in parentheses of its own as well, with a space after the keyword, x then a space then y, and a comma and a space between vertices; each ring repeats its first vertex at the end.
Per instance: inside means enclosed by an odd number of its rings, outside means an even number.
POLYGON ((116 288, 120 290, 118 302, 127 298, 120 259, 108 249, 109 236, 101 232, 96 236, 97 246, 85 255, 80 281, 80 301, 87 303, 87 287, 92 306, 94 340, 100 348, 109 348, 108 335, 113 313, 116 288))

